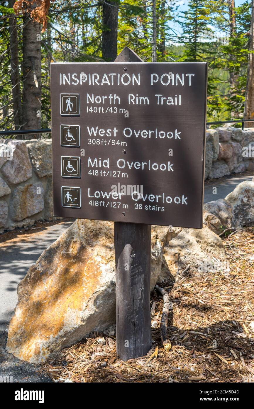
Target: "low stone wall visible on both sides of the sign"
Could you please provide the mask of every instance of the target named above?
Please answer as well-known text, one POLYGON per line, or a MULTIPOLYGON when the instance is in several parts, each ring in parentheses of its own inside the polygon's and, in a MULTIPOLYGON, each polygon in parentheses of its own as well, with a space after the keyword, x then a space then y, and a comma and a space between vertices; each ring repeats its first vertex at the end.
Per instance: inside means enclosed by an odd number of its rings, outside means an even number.
MULTIPOLYGON (((205 179, 246 170, 254 170, 254 128, 209 129, 205 179)), ((52 219, 51 139, 0 139, 0 233, 52 219)))

